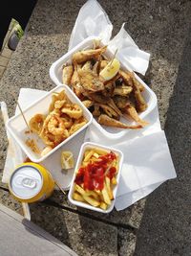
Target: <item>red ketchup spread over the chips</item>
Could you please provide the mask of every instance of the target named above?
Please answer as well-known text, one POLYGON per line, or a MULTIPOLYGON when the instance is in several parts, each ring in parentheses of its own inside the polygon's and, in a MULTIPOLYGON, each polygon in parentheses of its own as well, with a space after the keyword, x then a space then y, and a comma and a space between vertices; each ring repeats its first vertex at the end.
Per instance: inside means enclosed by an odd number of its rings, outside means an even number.
POLYGON ((116 167, 110 167, 115 159, 117 155, 113 151, 99 156, 94 163, 90 162, 87 166, 79 168, 74 182, 77 185, 83 183, 85 190, 102 190, 105 176, 112 179, 117 173, 116 167))

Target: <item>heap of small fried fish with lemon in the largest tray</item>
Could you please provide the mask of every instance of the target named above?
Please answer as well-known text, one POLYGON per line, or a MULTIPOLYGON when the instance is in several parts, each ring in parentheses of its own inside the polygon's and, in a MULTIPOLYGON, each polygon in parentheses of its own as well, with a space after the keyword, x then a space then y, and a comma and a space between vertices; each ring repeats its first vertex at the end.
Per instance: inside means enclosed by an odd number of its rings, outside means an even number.
MULTIPOLYGON (((138 81, 134 72, 122 69, 117 58, 106 58, 106 49, 107 46, 100 47, 99 42, 95 41, 93 49, 74 53, 72 63, 63 67, 64 81, 72 85, 75 95, 99 124, 114 128, 144 128, 148 122, 141 120, 138 115, 147 108, 142 95, 144 85, 138 81), (128 121, 132 119, 138 125, 123 124, 120 122, 121 117, 128 121)), ((61 109, 61 103, 54 107, 61 109)), ((79 112, 75 110, 80 118, 79 112)), ((62 108, 61 112, 74 118, 69 108, 62 108)))

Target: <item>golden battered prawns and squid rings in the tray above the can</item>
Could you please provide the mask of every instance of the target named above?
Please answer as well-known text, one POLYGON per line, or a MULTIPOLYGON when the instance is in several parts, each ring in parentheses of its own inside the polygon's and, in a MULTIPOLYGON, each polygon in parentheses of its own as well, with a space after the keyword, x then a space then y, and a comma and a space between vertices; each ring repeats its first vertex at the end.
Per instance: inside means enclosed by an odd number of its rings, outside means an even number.
MULTIPOLYGON (((29 125, 45 144, 44 150, 38 153, 45 155, 86 123, 82 108, 73 104, 62 90, 53 93, 48 115, 34 115, 29 125)), ((29 141, 27 144, 32 147, 29 141)))

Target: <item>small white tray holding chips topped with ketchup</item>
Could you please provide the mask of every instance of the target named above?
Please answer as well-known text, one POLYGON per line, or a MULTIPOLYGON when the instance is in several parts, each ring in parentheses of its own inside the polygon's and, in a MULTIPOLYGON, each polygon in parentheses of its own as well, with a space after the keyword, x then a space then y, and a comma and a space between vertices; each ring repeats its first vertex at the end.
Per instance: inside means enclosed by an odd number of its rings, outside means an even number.
POLYGON ((77 162, 76 162, 76 165, 75 165, 74 176, 73 176, 70 191, 69 191, 69 194, 68 194, 68 198, 71 201, 71 203, 73 203, 76 206, 87 208, 87 209, 90 209, 90 210, 93 210, 93 211, 96 211, 96 212, 110 213, 114 209, 115 200, 116 200, 116 197, 117 197, 117 188, 118 188, 118 184, 119 184, 119 178, 120 178, 122 163, 123 163, 123 153, 122 153, 122 151, 118 151, 118 150, 113 149, 111 147, 102 146, 102 145, 92 143, 92 142, 83 143, 82 146, 81 146, 81 149, 79 151, 79 156, 77 158, 77 162), (117 172, 117 185, 115 186, 115 188, 113 190, 114 199, 112 200, 111 205, 106 210, 103 210, 99 207, 92 206, 91 204, 88 204, 86 202, 81 202, 81 201, 77 201, 77 200, 73 199, 74 178, 75 178, 75 175, 77 174, 77 171, 78 171, 78 169, 81 165, 81 162, 83 160, 84 152, 87 151, 87 150, 92 150, 94 148, 99 148, 99 149, 103 149, 103 150, 106 150, 106 151, 114 151, 119 157, 118 172, 117 172))

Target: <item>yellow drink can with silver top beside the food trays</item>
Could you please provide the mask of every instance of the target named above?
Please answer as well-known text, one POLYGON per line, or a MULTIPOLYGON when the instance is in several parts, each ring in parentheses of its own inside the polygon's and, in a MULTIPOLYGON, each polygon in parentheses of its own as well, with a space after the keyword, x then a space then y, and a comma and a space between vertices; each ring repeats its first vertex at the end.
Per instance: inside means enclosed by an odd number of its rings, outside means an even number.
POLYGON ((9 181, 11 195, 21 202, 29 203, 49 198, 54 185, 51 173, 32 162, 17 166, 9 181))

